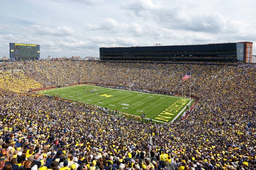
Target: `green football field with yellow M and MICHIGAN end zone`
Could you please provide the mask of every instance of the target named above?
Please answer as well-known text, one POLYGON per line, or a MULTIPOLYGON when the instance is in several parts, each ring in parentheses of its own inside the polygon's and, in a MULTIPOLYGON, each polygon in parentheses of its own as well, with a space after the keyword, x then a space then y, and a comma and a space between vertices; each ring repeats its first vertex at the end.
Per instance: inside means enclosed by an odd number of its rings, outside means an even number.
MULTIPOLYGON (((190 100, 180 97, 110 89, 93 85, 76 85, 38 91, 51 96, 60 96, 73 101, 106 107, 131 115, 141 116, 159 123, 172 122, 181 116, 190 100), (88 92, 85 92, 88 91, 88 92), (90 92, 94 91, 94 92, 90 92)), ((191 104, 194 101, 191 101, 191 104)))

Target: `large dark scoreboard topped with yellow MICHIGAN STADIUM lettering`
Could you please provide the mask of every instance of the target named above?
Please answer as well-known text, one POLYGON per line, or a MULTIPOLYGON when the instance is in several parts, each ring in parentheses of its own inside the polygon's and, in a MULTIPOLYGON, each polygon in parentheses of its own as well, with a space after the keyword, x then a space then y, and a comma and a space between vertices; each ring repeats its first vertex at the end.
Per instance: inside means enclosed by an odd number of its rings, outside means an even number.
POLYGON ((40 45, 28 43, 10 43, 10 59, 39 59, 40 45))

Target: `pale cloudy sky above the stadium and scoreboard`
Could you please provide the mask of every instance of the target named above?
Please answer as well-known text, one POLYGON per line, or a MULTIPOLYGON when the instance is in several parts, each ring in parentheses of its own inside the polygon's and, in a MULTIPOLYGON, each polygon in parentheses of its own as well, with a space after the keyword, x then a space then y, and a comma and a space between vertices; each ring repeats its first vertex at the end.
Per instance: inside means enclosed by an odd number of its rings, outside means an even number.
POLYGON ((41 58, 99 57, 99 47, 255 42, 255 8, 256 0, 1 0, 0 57, 9 57, 10 42, 39 44, 41 58))

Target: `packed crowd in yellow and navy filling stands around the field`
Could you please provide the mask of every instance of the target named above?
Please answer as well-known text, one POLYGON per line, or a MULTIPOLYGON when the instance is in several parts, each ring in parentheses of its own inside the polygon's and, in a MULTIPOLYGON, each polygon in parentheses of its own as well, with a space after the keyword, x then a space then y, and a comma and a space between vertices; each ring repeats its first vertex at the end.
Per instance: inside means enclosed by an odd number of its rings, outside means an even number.
POLYGON ((1 63, 0 70, 4 82, 16 82, 16 73, 20 81, 35 82, 13 83, 7 91, 0 81, 4 170, 256 168, 255 64, 21 61, 1 63), (168 124, 141 124, 94 105, 14 92, 36 83, 82 82, 179 92, 190 85, 181 81, 188 72, 200 102, 187 119, 168 124))

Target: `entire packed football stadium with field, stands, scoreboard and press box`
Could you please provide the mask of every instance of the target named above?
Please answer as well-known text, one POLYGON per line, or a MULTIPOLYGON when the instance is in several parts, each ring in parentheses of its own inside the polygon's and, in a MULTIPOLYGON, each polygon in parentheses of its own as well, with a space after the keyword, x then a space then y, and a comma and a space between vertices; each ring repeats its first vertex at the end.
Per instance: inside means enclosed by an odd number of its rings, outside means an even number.
POLYGON ((0 62, 4 170, 256 168, 251 42, 102 47, 99 61, 16 46, 31 60, 0 62))

